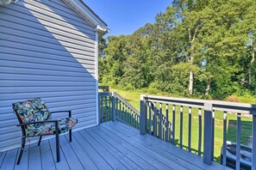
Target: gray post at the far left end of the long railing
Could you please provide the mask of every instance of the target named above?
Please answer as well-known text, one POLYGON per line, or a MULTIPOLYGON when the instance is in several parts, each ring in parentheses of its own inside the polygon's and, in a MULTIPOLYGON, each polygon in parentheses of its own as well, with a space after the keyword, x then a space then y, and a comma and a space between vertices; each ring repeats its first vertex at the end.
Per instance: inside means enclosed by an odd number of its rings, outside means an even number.
POLYGON ((140 135, 146 134, 147 129, 147 95, 140 95, 140 135))

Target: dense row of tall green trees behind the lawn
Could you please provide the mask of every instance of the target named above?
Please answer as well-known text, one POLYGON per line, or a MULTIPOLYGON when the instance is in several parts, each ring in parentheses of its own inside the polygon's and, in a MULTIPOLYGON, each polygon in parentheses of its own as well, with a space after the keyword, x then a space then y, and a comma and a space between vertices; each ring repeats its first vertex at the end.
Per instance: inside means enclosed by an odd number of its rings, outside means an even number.
POLYGON ((256 90, 255 0, 175 0, 153 24, 99 40, 102 83, 210 99, 256 90))

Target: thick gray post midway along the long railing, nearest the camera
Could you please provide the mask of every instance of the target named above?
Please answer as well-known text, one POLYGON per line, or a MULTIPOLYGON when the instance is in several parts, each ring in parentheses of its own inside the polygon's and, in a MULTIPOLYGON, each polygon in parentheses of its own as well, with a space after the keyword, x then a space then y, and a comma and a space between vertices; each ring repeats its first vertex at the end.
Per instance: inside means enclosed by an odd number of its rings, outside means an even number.
POLYGON ((213 107, 212 103, 204 103, 203 163, 211 165, 213 161, 213 107))

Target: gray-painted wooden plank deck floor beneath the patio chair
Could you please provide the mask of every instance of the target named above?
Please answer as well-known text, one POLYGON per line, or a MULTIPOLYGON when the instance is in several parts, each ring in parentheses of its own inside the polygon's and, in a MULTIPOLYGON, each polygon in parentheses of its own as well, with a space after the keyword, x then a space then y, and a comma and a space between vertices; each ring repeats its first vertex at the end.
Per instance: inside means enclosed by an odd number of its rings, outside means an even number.
POLYGON ((19 149, 0 153, 0 169, 225 169, 219 164, 203 164, 202 157, 145 135, 126 124, 109 122, 73 132, 72 143, 60 137, 59 163, 55 140, 26 146, 19 166, 19 149))

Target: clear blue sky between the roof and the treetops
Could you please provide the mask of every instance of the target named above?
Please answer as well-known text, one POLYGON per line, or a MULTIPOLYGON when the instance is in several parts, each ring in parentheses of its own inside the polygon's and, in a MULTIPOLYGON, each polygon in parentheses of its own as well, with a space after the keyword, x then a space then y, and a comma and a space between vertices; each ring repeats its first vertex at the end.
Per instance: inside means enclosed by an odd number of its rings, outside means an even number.
POLYGON ((134 33, 146 23, 154 22, 155 15, 165 12, 172 0, 84 0, 108 24, 108 35, 134 33))

